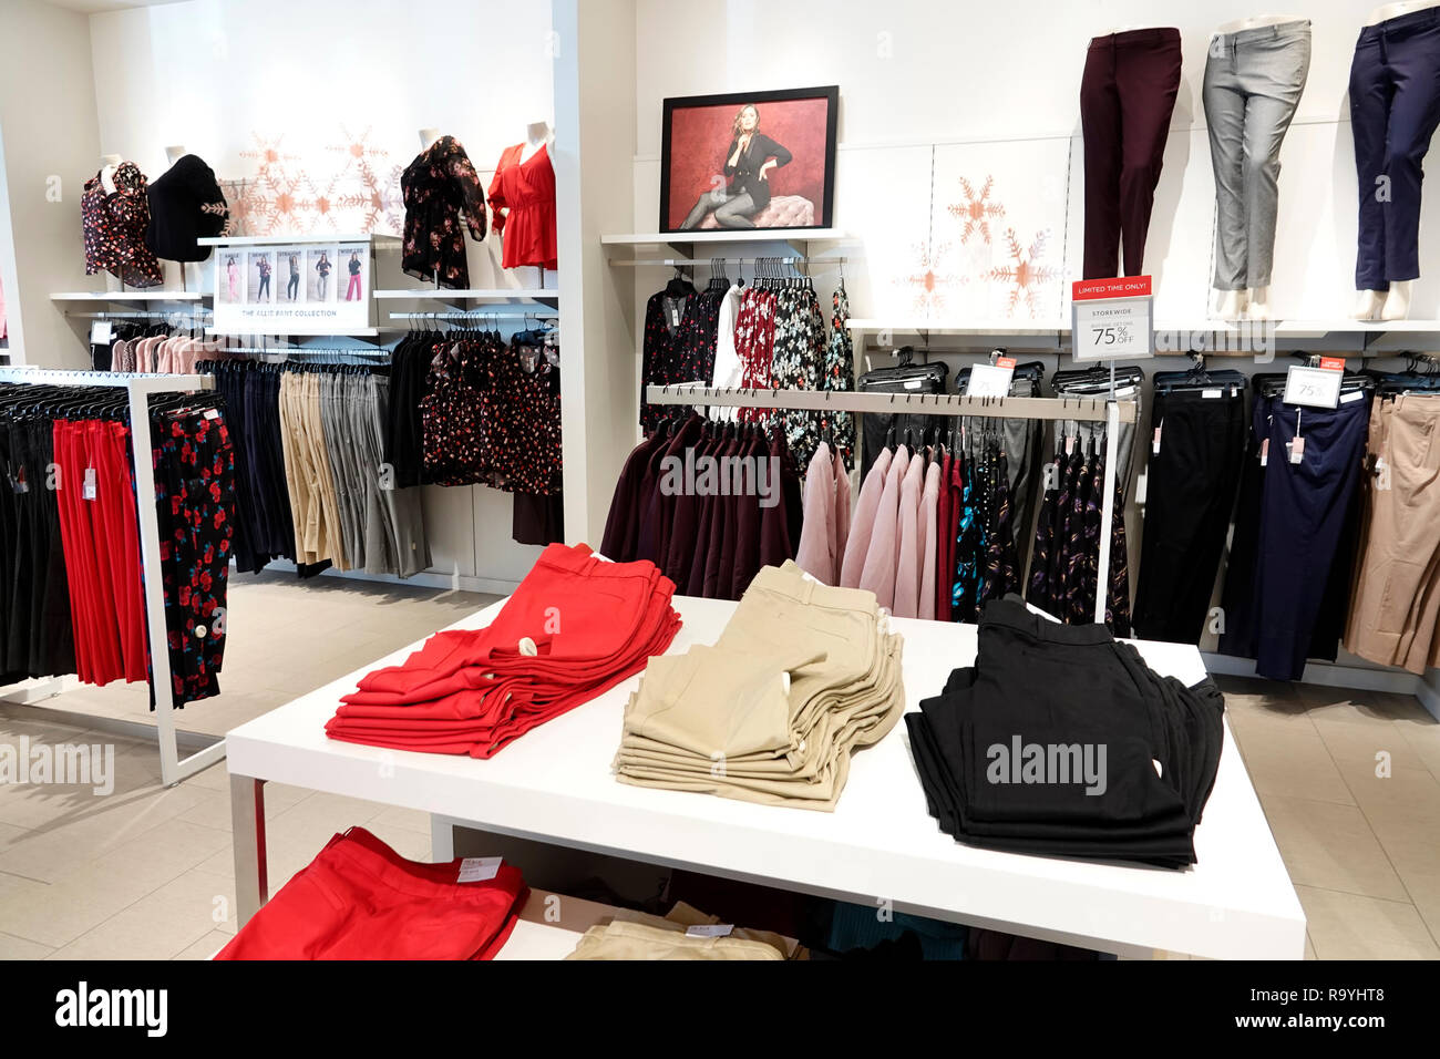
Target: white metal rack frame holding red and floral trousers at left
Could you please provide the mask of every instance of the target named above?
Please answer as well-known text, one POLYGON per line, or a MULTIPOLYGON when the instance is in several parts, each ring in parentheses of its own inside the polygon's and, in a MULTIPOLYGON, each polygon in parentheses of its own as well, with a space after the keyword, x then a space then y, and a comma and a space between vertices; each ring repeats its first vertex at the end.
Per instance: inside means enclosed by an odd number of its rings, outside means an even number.
MULTIPOLYGON (((166 630, 166 594, 160 566, 160 522, 156 516, 156 473, 150 460, 151 393, 215 389, 207 375, 130 375, 121 372, 58 372, 37 367, 0 367, 0 383, 35 386, 105 386, 124 389, 130 398, 131 464, 135 474, 135 507, 140 516, 140 558, 145 591, 150 674, 156 689, 156 730, 160 743, 160 778, 173 787, 225 756, 225 739, 181 759, 176 746, 176 707, 170 693, 170 637, 166 630), (135 458, 143 454, 143 458, 135 458), (156 650, 156 645, 160 650, 156 650)), ((58 689, 56 689, 58 690, 58 689)), ((32 703, 33 705, 33 703, 32 703)), ((95 715, 71 715, 101 720, 95 715)))

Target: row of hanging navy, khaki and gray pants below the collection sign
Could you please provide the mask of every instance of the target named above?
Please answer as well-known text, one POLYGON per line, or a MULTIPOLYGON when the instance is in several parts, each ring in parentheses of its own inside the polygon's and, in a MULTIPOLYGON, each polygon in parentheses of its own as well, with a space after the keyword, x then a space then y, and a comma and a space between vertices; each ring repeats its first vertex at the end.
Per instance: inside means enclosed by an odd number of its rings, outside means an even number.
POLYGON ((202 362, 233 409, 236 569, 289 559, 301 576, 364 569, 402 578, 431 565, 420 497, 386 467, 382 366, 202 362))

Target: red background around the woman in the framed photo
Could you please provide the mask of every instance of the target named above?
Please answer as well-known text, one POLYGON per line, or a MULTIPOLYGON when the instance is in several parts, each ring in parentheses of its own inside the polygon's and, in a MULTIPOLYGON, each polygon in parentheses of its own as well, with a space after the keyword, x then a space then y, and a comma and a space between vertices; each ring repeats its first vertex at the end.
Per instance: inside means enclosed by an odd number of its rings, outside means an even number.
MULTIPOLYGON (((744 104, 677 108, 670 118, 668 228, 680 223, 701 192, 723 176, 734 117, 744 104)), ((795 160, 772 169, 770 195, 801 195, 815 203, 815 223, 825 216, 825 110, 828 99, 759 102, 760 133, 780 144, 795 160)))

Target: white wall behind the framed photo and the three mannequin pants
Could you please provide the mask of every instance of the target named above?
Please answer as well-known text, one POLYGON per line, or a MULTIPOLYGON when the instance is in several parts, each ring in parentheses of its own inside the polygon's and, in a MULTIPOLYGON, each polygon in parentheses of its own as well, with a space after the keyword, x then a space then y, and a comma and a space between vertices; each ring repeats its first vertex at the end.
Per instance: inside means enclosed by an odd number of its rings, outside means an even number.
MULTIPOLYGON (((1354 297, 1356 192, 1346 86, 1372 0, 1300 7, 1297 17, 1312 20, 1312 59, 1282 153, 1273 301, 1283 317, 1333 320, 1354 297)), ((1018 316, 1064 316, 1068 280, 1080 275, 1079 94, 1087 42, 1122 26, 1175 26, 1182 81, 1146 271, 1159 284, 1158 318, 1204 318, 1214 207, 1201 108, 1207 46, 1220 23, 1257 13, 1253 0, 639 0, 636 223, 649 229, 658 212, 665 97, 838 84, 835 223, 864 241, 865 255, 847 272, 857 277, 848 284, 855 316, 975 318, 1005 307, 1009 285, 984 278, 1009 258, 1002 236, 995 233, 989 245, 962 241, 948 209, 965 199, 962 176, 976 189, 986 176, 995 179, 991 200, 1007 210, 998 228, 1014 228, 1024 246, 1050 232, 1040 264, 1054 267, 1053 278, 1040 308, 1018 316), (932 271, 937 297, 922 291, 932 271)), ((1433 193, 1421 233, 1421 259, 1437 259, 1440 196, 1433 193)), ((1411 317, 1440 317, 1440 269, 1417 282, 1411 317)))

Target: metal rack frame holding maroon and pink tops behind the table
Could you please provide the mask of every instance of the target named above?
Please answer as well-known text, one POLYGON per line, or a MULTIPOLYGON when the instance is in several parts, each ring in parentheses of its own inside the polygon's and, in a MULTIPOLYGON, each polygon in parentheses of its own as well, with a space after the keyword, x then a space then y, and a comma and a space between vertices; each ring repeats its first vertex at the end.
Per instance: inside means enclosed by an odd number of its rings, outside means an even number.
POLYGON ((850 390, 782 390, 737 386, 678 383, 647 386, 651 405, 691 405, 714 408, 775 408, 819 412, 865 412, 907 415, 969 415, 988 419, 1076 419, 1104 422, 1104 501, 1100 507, 1100 559, 1094 594, 1096 624, 1104 624, 1104 586, 1110 579, 1110 537, 1115 532, 1115 475, 1119 458, 1120 424, 1136 421, 1133 401, 1100 398, 972 398, 963 393, 854 393, 850 390), (697 399, 698 398, 698 399, 697 399))

